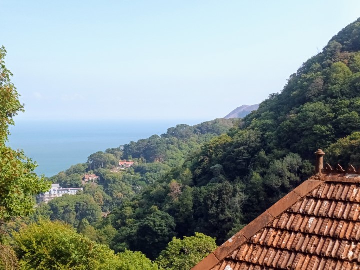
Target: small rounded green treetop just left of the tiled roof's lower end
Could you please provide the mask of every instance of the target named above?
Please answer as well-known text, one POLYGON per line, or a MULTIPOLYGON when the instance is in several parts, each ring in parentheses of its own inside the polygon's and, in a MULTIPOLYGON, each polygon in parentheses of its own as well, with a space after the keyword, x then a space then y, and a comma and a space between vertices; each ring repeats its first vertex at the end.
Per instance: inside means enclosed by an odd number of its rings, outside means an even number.
POLYGON ((182 240, 174 237, 156 262, 164 269, 190 270, 216 247, 215 239, 203 233, 195 232, 195 236, 185 236, 182 240))

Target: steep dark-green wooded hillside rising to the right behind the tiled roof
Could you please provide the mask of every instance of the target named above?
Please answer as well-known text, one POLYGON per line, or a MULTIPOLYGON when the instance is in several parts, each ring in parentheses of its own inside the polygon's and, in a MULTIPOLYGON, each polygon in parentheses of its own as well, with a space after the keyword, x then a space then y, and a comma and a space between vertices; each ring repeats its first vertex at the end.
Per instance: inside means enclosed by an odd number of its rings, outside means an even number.
MULTIPOLYGON (((154 207, 157 214, 170 216, 163 224, 168 233, 200 231, 223 242, 307 179, 318 147, 335 159, 347 154, 338 143, 358 149, 359 33, 360 20, 346 26, 290 76, 281 93, 271 94, 237 128, 205 143, 183 165, 121 205, 111 216, 118 230, 113 248, 153 256, 144 242, 134 244, 142 231, 133 228, 150 218, 154 207)), ((146 237, 148 243, 154 240, 146 237)))

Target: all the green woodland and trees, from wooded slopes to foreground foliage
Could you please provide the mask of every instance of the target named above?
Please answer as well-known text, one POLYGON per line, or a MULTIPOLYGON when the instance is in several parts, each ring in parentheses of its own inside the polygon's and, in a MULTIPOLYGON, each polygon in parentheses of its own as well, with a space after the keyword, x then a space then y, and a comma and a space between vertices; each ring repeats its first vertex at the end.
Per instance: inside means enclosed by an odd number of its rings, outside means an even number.
POLYGON ((45 178, 5 146, 23 110, 0 50, 0 268, 190 269, 325 162, 360 167, 360 19, 241 119, 179 124, 45 178), (134 165, 116 170, 119 160, 134 165), (82 186, 84 173, 97 184, 82 186), (83 187, 49 203, 34 195, 83 187), (103 213, 108 213, 103 217, 103 213))

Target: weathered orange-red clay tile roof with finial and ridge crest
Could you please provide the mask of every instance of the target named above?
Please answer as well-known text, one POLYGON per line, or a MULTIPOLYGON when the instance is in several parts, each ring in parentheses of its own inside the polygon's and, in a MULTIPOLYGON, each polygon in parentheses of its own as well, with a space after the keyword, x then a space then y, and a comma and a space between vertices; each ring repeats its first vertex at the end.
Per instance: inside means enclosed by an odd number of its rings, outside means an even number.
POLYGON ((360 175, 353 166, 323 169, 321 156, 319 173, 193 270, 360 269, 360 175))

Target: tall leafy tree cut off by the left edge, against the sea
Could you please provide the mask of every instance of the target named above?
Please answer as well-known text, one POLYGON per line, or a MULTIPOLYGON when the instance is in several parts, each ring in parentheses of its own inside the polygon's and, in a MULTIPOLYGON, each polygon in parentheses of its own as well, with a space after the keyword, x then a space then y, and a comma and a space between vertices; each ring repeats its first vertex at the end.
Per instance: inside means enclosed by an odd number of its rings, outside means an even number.
POLYGON ((5 145, 8 126, 13 117, 23 111, 19 94, 10 81, 12 73, 5 66, 6 50, 0 48, 0 222, 12 216, 25 216, 32 212, 33 196, 45 192, 50 184, 38 177, 36 164, 22 150, 14 151, 5 145))

